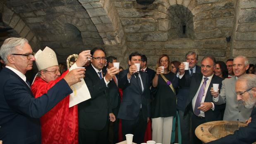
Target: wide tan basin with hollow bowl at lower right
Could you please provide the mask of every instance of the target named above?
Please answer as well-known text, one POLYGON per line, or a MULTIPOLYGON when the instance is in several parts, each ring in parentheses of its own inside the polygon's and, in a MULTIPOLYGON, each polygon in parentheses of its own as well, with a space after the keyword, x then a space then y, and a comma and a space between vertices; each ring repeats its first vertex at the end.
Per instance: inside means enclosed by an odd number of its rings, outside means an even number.
POLYGON ((246 125, 246 123, 238 121, 212 121, 196 127, 195 134, 203 143, 207 143, 225 137, 226 135, 234 134, 235 130, 246 125))

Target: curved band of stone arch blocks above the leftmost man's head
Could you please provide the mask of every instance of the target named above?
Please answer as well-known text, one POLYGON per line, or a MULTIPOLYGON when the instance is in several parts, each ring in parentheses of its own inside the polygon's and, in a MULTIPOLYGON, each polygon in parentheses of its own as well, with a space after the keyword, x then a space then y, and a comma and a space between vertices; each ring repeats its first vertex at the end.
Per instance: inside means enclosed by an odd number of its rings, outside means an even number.
MULTIPOLYGON (((10 30, 6 31, 1 35, 3 39, 10 37, 22 37, 26 38, 29 41, 32 49, 39 46, 38 39, 31 31, 29 26, 27 26, 24 21, 19 17, 18 14, 9 9, 5 4, 0 2, 0 13, 2 14, 2 26, 9 28, 10 30)), ((3 42, 3 41, 2 41, 3 42)))

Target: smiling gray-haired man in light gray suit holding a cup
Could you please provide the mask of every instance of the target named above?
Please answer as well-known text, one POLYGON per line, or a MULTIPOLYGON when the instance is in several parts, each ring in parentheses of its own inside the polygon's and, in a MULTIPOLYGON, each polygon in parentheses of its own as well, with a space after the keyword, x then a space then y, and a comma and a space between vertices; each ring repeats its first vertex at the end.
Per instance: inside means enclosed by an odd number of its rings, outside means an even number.
POLYGON ((237 94, 235 92, 235 83, 237 78, 246 73, 249 68, 249 61, 244 56, 238 56, 233 61, 234 77, 226 78, 222 81, 222 87, 219 92, 213 92, 211 88, 211 94, 213 95, 214 104, 225 104, 226 108, 224 112, 223 120, 237 120, 245 121, 249 119, 253 108, 247 109, 244 107, 241 101, 237 100, 237 94))

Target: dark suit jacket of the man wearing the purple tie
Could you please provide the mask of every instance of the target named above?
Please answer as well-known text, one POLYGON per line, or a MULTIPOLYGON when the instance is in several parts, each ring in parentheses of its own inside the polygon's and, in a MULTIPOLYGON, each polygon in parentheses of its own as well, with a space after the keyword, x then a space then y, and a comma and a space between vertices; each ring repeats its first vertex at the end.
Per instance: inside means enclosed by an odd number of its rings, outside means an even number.
MULTIPOLYGON (((184 111, 184 115, 186 115, 189 112, 189 110, 193 112, 192 99, 194 98, 197 90, 200 87, 202 78, 203 78, 203 75, 200 73, 200 74, 195 74, 191 80, 191 85, 189 89, 189 99, 186 102, 186 109, 184 111)), ((204 102, 213 102, 213 96, 211 95, 211 92, 210 92, 211 87, 213 87, 213 83, 218 83, 219 89, 220 89, 222 80, 223 78, 220 78, 213 74, 213 78, 208 87, 204 102)), ((214 105, 214 106, 215 106, 214 111, 212 109, 209 109, 208 111, 204 112, 206 122, 210 122, 214 120, 222 120, 221 110, 223 109, 223 106, 221 105, 214 105)))

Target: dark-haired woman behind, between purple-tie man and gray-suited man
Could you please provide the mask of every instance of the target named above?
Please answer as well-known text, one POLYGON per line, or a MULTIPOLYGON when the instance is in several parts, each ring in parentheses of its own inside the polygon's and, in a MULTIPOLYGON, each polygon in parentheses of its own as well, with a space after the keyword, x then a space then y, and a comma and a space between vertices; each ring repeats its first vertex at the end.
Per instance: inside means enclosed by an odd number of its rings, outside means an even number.
POLYGON ((225 62, 216 61, 216 68, 215 68, 214 74, 216 76, 219 76, 220 78, 224 78, 224 79, 227 78, 228 71, 227 71, 227 66, 225 62))

